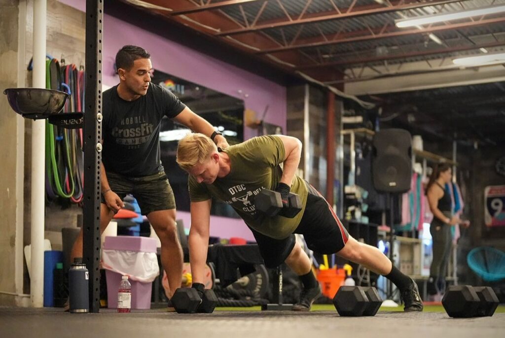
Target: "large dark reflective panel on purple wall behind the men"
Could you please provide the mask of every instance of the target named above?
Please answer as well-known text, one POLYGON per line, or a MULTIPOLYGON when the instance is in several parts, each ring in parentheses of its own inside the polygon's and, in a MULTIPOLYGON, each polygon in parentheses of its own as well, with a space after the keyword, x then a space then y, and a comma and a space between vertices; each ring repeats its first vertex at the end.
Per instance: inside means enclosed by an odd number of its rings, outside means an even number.
MULTIPOLYGON (((196 114, 203 117, 228 140, 230 145, 244 140, 244 102, 214 89, 155 70, 151 81, 174 93, 196 114)), ((175 161, 177 142, 189 130, 168 118, 164 118, 160 130, 161 161, 175 195, 177 210, 189 211, 188 175, 175 161)), ((238 218, 233 208, 213 200, 211 214, 238 218)))

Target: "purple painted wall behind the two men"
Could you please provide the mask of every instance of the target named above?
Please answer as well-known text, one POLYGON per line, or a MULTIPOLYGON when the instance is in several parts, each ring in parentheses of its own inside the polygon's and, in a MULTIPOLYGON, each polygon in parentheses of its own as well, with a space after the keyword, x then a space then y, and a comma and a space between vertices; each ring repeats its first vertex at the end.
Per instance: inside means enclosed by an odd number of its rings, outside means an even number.
MULTIPOLYGON (((84 1, 59 1, 81 11, 85 10, 84 1)), ((280 125, 286 130, 285 87, 108 15, 104 18, 105 85, 114 86, 119 82, 114 74, 114 58, 125 44, 139 45, 148 50, 153 68, 240 98, 244 101, 245 108, 255 110, 259 115, 263 114, 268 105, 265 121, 280 125)), ((255 135, 256 130, 245 128, 246 139, 255 135)), ((191 224, 188 212, 178 211, 177 218, 183 219, 186 228, 191 224)), ((254 239, 243 221, 217 216, 211 217, 211 236, 254 239)))

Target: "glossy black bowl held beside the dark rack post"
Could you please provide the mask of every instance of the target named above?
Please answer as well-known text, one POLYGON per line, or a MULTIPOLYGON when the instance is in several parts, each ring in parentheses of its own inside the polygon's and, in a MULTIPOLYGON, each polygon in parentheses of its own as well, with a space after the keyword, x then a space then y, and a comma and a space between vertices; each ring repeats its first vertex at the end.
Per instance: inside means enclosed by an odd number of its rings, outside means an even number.
POLYGON ((25 118, 59 114, 70 96, 59 90, 42 88, 8 88, 4 94, 14 111, 25 118))

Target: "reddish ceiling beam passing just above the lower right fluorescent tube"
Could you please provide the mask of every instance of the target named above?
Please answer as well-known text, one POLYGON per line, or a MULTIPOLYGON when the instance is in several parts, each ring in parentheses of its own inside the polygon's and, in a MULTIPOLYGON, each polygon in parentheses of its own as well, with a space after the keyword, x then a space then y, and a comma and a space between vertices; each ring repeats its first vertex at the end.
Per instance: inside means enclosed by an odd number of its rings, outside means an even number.
MULTIPOLYGON (((466 51, 480 48, 491 48, 504 46, 505 41, 495 41, 490 43, 476 44, 476 45, 467 45, 467 46, 456 46, 449 48, 441 48, 441 49, 426 49, 422 51, 413 51, 404 54, 395 54, 395 55, 383 55, 380 57, 371 57, 371 58, 363 58, 363 59, 349 59, 342 60, 336 62, 326 62, 321 64, 313 64, 313 65, 303 65, 297 67, 297 69, 310 69, 310 68, 321 68, 321 67, 334 67, 334 66, 345 66, 345 65, 356 65, 356 64, 367 64, 372 62, 386 61, 386 60, 395 60, 395 59, 406 59, 413 57, 422 57, 424 55, 433 55, 433 54, 446 54, 457 51, 466 51)), ((336 54, 336 57, 341 57, 341 55, 336 54)))

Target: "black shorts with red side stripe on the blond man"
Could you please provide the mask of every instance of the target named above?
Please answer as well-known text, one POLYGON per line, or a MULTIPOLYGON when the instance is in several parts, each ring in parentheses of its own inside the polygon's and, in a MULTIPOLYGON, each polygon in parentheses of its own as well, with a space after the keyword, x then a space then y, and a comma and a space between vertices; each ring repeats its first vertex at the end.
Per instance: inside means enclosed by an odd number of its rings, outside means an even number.
POLYGON ((276 240, 249 228, 258 243, 265 266, 269 268, 277 267, 289 256, 295 244, 294 234, 304 235, 307 247, 320 254, 340 251, 349 238, 333 208, 314 187, 307 182, 306 184, 309 195, 305 212, 293 234, 283 240, 276 240))

